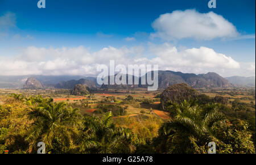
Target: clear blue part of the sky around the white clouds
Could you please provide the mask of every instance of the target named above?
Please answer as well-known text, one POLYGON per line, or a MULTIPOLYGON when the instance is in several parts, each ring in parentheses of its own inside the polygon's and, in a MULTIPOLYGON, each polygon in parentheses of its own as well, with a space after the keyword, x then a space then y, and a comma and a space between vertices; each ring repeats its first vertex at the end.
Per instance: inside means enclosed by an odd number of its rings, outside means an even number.
MULTIPOLYGON (((204 46, 213 49, 216 53, 232 57, 241 65, 252 65, 252 69, 254 67, 254 71, 250 73, 245 70, 232 73, 228 67, 228 71, 222 71, 222 75, 247 73, 246 76, 250 76, 255 74, 255 1, 252 0, 217 0, 216 9, 209 9, 208 0, 46 0, 46 9, 38 9, 37 2, 38 0, 0 0, 0 20, 1 16, 7 18, 6 14, 10 14, 13 15, 13 18, 9 19, 13 19, 14 22, 13 26, 0 27, 0 57, 2 61, 11 60, 11 58, 17 59, 16 57, 22 56, 24 49, 30 46, 47 50, 83 46, 91 54, 97 54, 97 51, 109 48, 109 46, 116 49, 139 47, 143 48, 142 55, 141 52, 135 54, 151 59, 157 56, 151 51, 152 44, 170 44, 175 46, 178 51, 199 49, 204 46), (152 26, 152 23, 160 15, 189 9, 200 14, 212 11, 214 14, 222 16, 226 22, 233 24, 236 28, 236 36, 222 35, 211 39, 174 37, 170 40, 157 35, 152 37, 152 34, 160 31, 163 26, 156 25, 155 28, 152 26)), ((129 53, 129 56, 133 56, 133 53, 129 53)), ((41 62, 49 60, 54 61, 51 58, 45 58, 41 62)), ((189 70, 180 69, 181 66, 170 66, 170 68, 181 71, 189 70)), ((242 66, 240 69, 243 69, 242 66)), ((195 72, 201 73, 203 70, 202 67, 201 70, 195 70, 195 72)), ((8 72, 8 70, 5 71, 8 72)), ((209 69, 209 71, 211 70, 209 69)), ((218 70, 212 69, 212 71, 218 70)), ((30 72, 10 72, 10 74, 26 73, 30 72)), ((40 71, 37 73, 40 74, 40 71)), ((63 74, 66 74, 65 71, 63 74)))

